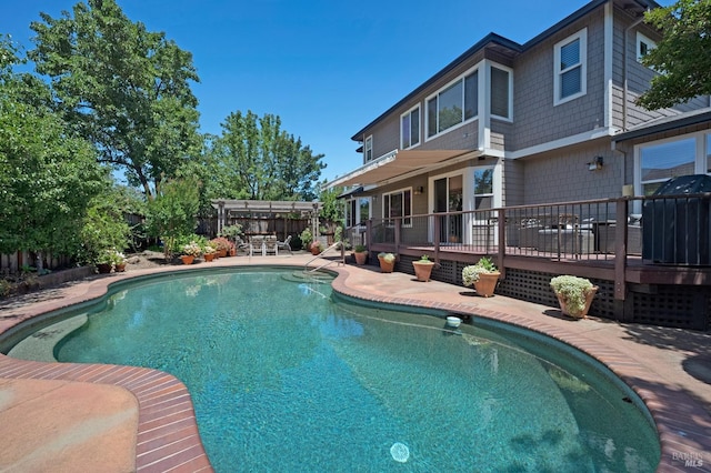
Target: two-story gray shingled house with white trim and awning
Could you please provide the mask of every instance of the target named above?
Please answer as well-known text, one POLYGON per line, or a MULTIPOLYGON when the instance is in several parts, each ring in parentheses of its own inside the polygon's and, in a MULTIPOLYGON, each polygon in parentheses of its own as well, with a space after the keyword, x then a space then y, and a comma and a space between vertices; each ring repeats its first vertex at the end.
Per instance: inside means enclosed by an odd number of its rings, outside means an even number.
MULTIPOLYGON (((347 227, 368 218, 644 195, 711 173, 711 102, 648 111, 649 0, 593 0, 519 44, 490 33, 352 139, 347 227)), ((405 221, 407 223, 407 221, 405 221)), ((455 221, 454 221, 455 224, 455 221)), ((467 229, 457 230, 467 239, 467 229)))

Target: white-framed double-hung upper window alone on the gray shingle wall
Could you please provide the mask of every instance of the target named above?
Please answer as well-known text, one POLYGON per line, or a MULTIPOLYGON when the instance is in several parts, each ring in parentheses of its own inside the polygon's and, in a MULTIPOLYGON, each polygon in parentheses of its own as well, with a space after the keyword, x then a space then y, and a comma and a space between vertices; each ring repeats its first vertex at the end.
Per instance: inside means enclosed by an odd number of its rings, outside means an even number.
POLYGON ((583 29, 555 44, 553 104, 584 95, 587 92, 588 30, 583 29))

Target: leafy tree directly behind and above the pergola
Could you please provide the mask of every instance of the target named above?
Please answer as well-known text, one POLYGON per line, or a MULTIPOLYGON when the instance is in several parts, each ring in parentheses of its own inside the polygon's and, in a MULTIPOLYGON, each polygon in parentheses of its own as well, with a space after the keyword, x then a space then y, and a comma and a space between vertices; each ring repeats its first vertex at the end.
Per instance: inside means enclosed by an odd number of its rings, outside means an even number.
POLYGON ((300 138, 281 129, 281 119, 236 112, 222 123, 208 151, 212 198, 312 200, 326 164, 300 138))

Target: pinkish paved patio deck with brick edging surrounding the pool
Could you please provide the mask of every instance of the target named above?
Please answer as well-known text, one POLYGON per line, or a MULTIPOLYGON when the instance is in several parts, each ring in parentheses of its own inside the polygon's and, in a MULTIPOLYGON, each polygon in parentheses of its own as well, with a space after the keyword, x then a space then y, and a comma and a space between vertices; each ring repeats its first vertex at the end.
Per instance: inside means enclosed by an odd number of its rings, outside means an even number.
MULTIPOLYGON (((97 275, 0 303, 0 333, 19 322, 91 300, 110 283, 230 265, 294 265, 311 255, 237 256, 193 266, 97 275)), ((320 264, 316 260, 312 264, 320 264)), ((660 434, 660 472, 711 471, 711 333, 571 321, 555 308, 478 298, 452 284, 419 282, 375 266, 337 265, 334 290, 353 298, 477 314, 549 334, 594 356, 647 403, 660 434), (697 469, 690 467, 694 461, 697 469), (701 461, 701 465, 699 465, 701 461)), ((186 386, 154 370, 40 363, 0 355, 0 471, 211 471, 186 386)))

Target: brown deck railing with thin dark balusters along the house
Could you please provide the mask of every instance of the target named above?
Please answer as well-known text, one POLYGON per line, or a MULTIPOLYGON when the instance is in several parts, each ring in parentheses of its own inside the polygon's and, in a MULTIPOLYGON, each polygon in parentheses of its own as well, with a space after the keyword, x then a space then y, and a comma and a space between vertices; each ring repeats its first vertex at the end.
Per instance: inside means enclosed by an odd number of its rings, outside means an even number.
POLYGON ((353 244, 435 252, 711 264, 711 193, 625 197, 371 219, 353 244), (644 252, 642 251, 644 245, 644 252))

